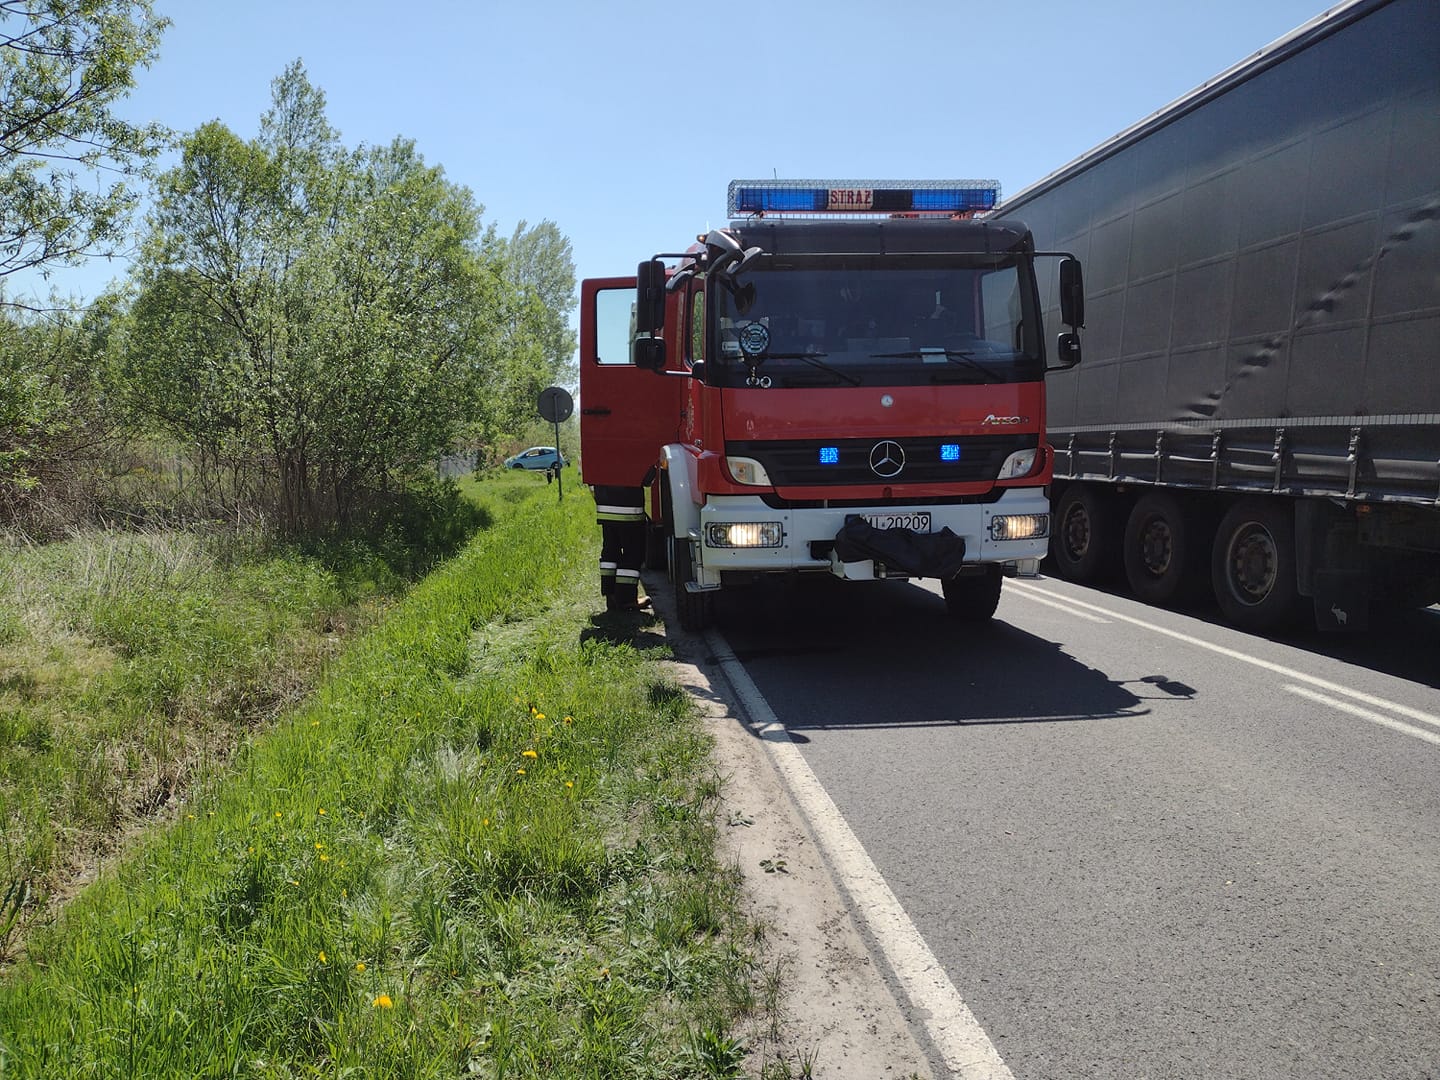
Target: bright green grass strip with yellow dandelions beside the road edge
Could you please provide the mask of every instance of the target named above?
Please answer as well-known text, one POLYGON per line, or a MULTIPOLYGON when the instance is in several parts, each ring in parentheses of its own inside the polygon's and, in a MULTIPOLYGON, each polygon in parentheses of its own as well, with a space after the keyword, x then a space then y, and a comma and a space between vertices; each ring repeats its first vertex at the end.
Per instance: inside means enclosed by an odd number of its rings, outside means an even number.
POLYGON ((590 616, 589 498, 534 491, 32 935, 0 1074, 740 1073, 708 740, 590 616))

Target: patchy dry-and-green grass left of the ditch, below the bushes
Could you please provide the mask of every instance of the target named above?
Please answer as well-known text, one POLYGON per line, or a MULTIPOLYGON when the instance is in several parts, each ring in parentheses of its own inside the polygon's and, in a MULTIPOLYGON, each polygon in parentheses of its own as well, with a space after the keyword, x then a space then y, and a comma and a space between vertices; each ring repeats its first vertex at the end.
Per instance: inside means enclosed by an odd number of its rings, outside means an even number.
POLYGON ((0 960, 403 589, 374 552, 150 530, 0 546, 0 960))

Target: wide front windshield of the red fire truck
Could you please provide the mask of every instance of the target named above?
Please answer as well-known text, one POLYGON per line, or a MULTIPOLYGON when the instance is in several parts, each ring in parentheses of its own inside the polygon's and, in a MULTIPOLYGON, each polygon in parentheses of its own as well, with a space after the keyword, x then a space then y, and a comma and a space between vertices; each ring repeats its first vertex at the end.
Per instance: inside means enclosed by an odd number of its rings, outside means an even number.
MULTIPOLYGON (((972 256, 973 258, 973 256, 972 256)), ((1007 256, 1009 258, 1009 256, 1007 256)), ((896 256, 760 266, 714 292, 720 386, 1011 383, 1043 377, 1024 265, 896 256)))

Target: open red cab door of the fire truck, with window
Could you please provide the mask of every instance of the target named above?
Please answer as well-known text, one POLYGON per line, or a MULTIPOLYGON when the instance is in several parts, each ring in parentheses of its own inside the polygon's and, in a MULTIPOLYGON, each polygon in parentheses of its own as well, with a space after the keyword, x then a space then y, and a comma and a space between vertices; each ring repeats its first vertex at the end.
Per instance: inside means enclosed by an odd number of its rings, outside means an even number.
MULTIPOLYGON (((674 442, 684 379, 635 367, 635 278, 580 282, 580 474, 639 487, 674 442)), ((668 336, 667 336, 668 337, 668 336)))

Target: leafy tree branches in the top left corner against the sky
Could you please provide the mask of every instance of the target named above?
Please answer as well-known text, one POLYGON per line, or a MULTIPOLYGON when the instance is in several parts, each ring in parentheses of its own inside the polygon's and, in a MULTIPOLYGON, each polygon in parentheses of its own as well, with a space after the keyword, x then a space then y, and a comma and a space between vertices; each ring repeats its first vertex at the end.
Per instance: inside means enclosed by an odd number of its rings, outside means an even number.
POLYGON ((0 0, 0 278, 112 252, 161 127, 111 111, 168 26, 151 0, 0 0))

